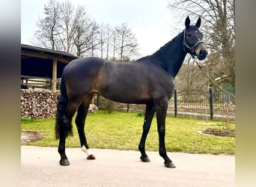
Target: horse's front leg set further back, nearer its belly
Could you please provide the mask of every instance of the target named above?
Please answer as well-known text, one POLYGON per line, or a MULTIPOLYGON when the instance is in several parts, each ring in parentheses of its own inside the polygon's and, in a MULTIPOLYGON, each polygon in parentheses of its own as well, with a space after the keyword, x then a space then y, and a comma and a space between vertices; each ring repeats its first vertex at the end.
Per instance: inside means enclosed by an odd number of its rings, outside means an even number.
POLYGON ((138 144, 138 150, 141 151, 141 161, 142 162, 150 162, 150 159, 148 158, 148 156, 145 152, 145 142, 146 142, 147 134, 150 130, 151 122, 153 119, 153 114, 155 114, 155 108, 154 108, 153 104, 147 104, 145 117, 144 117, 143 132, 141 135, 141 141, 138 144))

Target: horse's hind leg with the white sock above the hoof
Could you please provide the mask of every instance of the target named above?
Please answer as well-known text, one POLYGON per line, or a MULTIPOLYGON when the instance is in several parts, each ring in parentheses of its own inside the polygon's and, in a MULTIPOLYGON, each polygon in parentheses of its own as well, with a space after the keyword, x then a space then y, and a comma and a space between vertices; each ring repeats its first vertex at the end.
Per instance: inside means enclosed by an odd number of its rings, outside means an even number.
POLYGON ((87 159, 95 159, 94 154, 89 150, 88 143, 86 141, 85 136, 85 118, 88 114, 88 108, 90 106, 90 102, 93 95, 87 96, 84 102, 78 108, 76 115, 76 128, 79 133, 80 144, 82 147, 82 151, 84 151, 88 157, 87 159))

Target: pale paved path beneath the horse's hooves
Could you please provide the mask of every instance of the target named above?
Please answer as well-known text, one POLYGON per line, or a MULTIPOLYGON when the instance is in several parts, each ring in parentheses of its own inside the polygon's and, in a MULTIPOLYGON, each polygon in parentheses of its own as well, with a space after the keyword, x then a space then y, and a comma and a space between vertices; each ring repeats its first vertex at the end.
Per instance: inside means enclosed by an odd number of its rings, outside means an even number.
POLYGON ((21 186, 235 186, 235 156, 168 153, 176 168, 165 168, 157 152, 140 162, 132 150, 67 148, 70 166, 60 166, 57 147, 21 146, 21 186))

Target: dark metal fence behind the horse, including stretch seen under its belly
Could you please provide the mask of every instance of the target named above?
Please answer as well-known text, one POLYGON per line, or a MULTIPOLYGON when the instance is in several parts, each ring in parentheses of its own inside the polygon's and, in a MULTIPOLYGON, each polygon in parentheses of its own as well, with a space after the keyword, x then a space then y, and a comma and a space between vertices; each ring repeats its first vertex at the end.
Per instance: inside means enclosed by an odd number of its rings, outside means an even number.
MULTIPOLYGON (((99 96, 95 99, 99 108, 117 111, 143 112, 144 105, 111 102, 99 96)), ((177 91, 168 102, 168 115, 175 117, 192 117, 206 120, 235 120, 235 99, 227 93, 208 91, 177 91)))

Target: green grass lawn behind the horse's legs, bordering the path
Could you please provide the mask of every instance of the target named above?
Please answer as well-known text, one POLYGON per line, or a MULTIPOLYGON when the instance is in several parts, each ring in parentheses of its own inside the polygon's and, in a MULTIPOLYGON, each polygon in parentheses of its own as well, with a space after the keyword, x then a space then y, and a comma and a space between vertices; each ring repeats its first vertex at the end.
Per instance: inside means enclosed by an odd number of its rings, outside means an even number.
MULTIPOLYGON (((79 136, 73 117, 73 137, 67 138, 67 147, 79 147, 79 136)), ((89 147, 115 150, 138 150, 144 117, 135 113, 97 111, 88 114, 85 133, 89 147)), ((201 135, 198 129, 220 128, 222 121, 196 120, 180 117, 166 117, 166 150, 183 153, 234 154, 235 138, 201 135)), ((23 120, 21 129, 40 132, 43 140, 25 143, 36 146, 58 146, 54 136, 55 118, 42 120, 23 120)), ((231 128, 234 129, 234 123, 231 128)), ((147 135, 146 150, 158 150, 158 133, 156 117, 147 135)))

